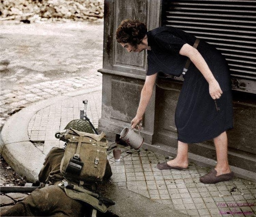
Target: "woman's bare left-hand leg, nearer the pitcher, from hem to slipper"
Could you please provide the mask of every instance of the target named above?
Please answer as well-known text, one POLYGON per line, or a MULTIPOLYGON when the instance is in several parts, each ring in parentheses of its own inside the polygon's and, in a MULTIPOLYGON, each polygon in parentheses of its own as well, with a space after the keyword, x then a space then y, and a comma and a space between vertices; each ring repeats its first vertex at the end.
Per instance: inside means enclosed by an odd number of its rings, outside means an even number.
POLYGON ((188 166, 188 144, 178 141, 177 156, 167 162, 169 166, 187 168, 188 166))

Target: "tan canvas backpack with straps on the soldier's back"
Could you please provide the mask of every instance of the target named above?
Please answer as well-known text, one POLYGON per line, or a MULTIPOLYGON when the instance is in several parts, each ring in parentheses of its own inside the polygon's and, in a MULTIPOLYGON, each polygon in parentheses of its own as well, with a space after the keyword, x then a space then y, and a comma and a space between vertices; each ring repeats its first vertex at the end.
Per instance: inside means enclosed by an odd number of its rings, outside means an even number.
POLYGON ((62 138, 67 142, 60 164, 60 172, 65 179, 71 182, 101 181, 107 164, 108 140, 105 133, 97 135, 70 128, 62 138))

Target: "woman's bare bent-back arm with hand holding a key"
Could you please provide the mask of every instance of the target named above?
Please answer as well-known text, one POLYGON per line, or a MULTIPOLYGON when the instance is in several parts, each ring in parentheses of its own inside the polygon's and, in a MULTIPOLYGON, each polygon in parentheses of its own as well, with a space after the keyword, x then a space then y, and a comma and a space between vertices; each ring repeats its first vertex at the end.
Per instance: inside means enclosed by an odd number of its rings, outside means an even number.
POLYGON ((214 78, 209 66, 198 50, 189 44, 185 44, 181 47, 179 53, 190 58, 192 63, 198 68, 206 81, 209 83, 209 93, 211 97, 213 99, 219 99, 222 94, 222 90, 220 89, 218 81, 214 78))

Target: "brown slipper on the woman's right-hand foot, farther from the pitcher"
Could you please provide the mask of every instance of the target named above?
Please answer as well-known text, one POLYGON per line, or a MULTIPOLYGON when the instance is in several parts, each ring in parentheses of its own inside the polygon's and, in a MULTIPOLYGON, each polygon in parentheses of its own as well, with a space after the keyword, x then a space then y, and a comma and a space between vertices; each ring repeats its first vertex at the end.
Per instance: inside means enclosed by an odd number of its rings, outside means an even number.
POLYGON ((224 182, 224 181, 230 181, 235 177, 233 172, 222 174, 219 176, 217 175, 217 171, 215 169, 212 169, 209 173, 199 178, 200 182, 204 184, 215 184, 217 182, 224 182))

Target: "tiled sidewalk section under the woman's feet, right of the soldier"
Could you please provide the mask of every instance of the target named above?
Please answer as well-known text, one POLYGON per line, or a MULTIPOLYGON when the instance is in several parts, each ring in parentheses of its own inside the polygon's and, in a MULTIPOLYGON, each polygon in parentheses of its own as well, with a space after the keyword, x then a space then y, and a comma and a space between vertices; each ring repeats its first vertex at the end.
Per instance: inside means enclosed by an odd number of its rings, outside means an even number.
POLYGON ((174 205, 174 209, 189 216, 255 215, 255 183, 235 178, 203 184, 199 177, 207 168, 190 164, 187 170, 160 171, 156 164, 165 162, 167 157, 143 148, 139 151, 121 145, 117 148, 122 150, 121 161, 115 162, 112 150, 109 160, 112 182, 120 187, 167 206, 174 205))

